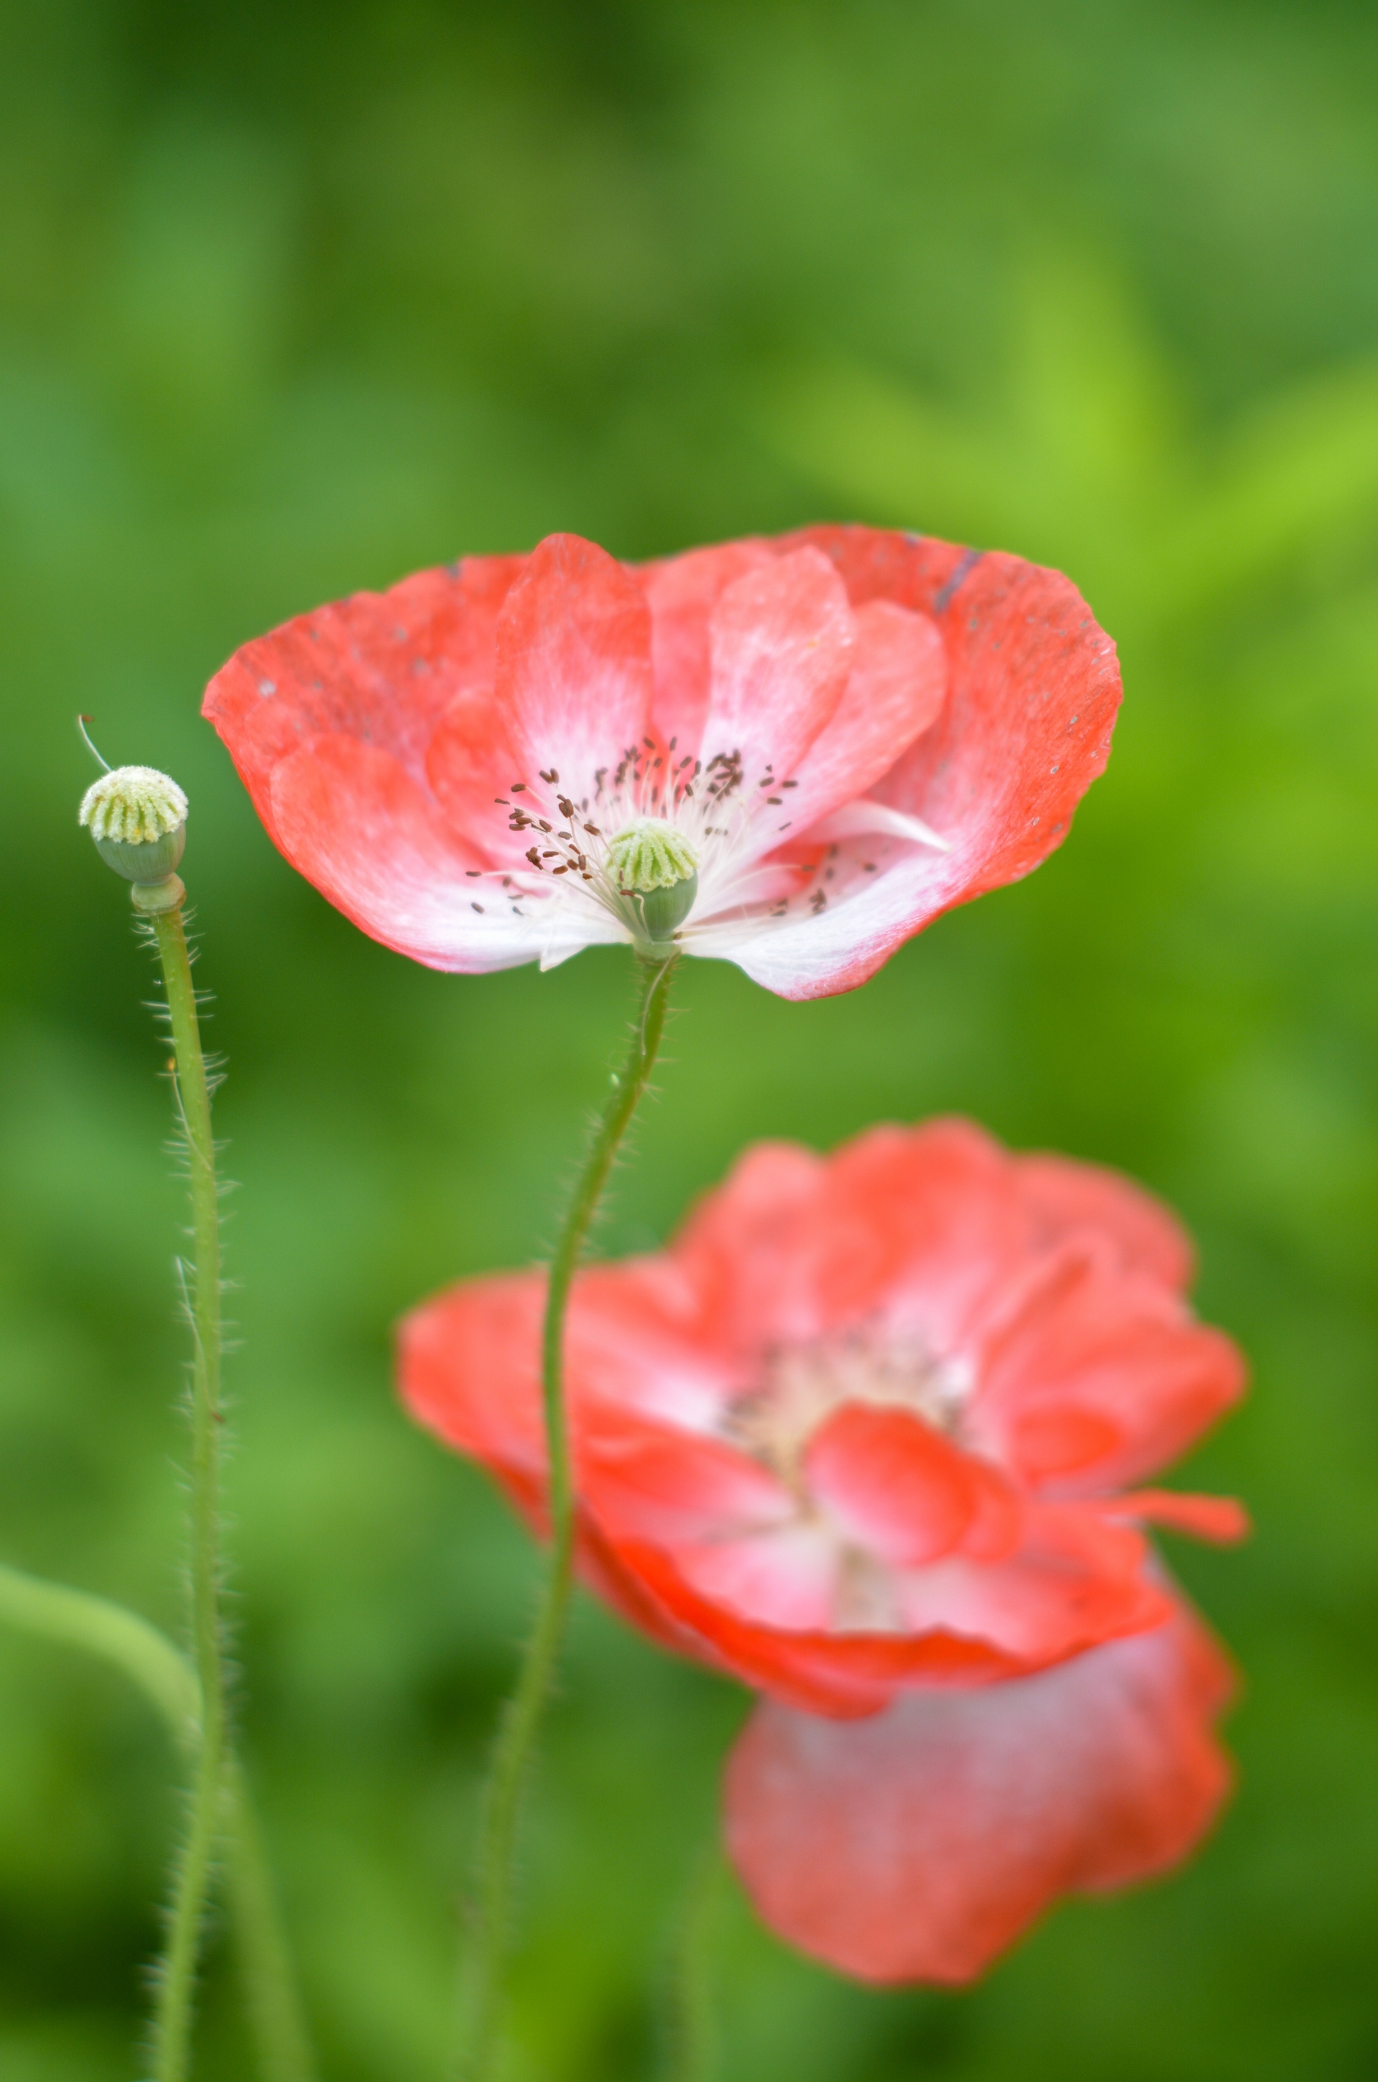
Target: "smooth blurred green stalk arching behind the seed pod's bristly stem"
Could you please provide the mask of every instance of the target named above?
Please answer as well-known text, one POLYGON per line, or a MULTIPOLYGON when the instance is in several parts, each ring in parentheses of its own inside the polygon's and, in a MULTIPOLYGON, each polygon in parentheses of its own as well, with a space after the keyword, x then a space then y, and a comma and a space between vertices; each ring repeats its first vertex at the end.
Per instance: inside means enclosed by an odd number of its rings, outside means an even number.
MULTIPOLYGON (((127 1611, 90 1591, 44 1582, 0 1562, 0 1620, 114 1664, 162 1716, 173 1743, 181 1751, 196 1751, 202 1711, 196 1670, 181 1649, 137 1611, 127 1611)), ((225 1753, 223 1799, 231 1911, 258 2074, 262 2082, 314 2082, 291 1955, 262 1853, 262 1832, 233 1749, 225 1753)))

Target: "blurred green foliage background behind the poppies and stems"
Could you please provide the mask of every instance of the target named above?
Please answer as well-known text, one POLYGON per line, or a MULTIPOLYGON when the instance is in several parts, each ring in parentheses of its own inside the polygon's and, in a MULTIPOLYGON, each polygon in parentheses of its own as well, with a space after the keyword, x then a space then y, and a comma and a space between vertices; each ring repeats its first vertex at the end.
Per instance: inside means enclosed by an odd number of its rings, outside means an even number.
MULTIPOLYGON (((722 2082, 1378 2070, 1378 21, 1336 0, 10 0, 0 15, 0 1557, 179 1622, 179 1187, 90 764, 192 793, 229 1058, 244 1724, 327 2082, 441 2072, 531 1553, 416 1434, 389 1324, 550 1237, 627 964, 460 981, 273 854, 202 683, 354 587, 558 527, 645 556, 853 516, 1066 566, 1109 775, 1032 881, 864 991, 687 964, 612 1251, 758 1135, 962 1108, 1201 1239, 1249 1407, 1172 1547, 1243 1788, 1184 1874, 962 1997, 870 1995, 724 1888, 722 2082)), ((512 2082, 654 2072, 743 1701, 583 1607, 512 2082)), ((129 2082, 177 1801, 117 1676, 0 1634, 0 2078, 129 2082)), ((244 2078, 212 1943, 200 2076, 244 2078)))

